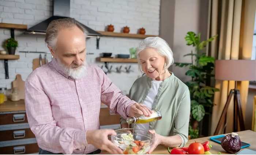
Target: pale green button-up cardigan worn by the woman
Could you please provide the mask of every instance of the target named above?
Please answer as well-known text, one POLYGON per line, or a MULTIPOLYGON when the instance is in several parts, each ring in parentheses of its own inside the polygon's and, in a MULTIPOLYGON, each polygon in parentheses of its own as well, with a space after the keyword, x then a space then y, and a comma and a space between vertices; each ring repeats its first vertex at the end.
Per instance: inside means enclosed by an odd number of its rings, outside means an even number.
MULTIPOLYGON (((137 79, 130 90, 130 98, 143 103, 151 88, 152 79, 142 76, 137 79)), ((150 122, 150 130, 154 129, 162 136, 180 135, 183 147, 188 141, 188 125, 190 115, 190 94, 188 87, 174 74, 160 84, 152 110, 160 111, 162 119, 150 122)), ((126 120, 121 118, 121 124, 126 120)))

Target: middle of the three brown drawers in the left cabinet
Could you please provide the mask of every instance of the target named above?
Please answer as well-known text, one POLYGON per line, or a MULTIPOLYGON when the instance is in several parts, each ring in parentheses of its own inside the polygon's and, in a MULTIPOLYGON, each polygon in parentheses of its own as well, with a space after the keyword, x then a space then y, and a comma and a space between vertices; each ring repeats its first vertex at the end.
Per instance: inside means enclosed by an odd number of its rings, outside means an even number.
POLYGON ((0 131, 0 135, 1 135, 1 141, 25 139, 25 138, 35 138, 35 135, 30 130, 30 128, 19 129, 19 130, 0 131))

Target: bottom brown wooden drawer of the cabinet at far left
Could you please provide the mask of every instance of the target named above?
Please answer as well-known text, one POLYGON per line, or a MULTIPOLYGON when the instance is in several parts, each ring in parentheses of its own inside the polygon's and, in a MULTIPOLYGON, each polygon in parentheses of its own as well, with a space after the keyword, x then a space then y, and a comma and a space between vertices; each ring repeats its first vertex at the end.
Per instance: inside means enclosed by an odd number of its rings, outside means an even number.
POLYGON ((37 143, 33 143, 18 146, 0 147, 0 154, 31 154, 37 153, 38 150, 39 147, 37 143))

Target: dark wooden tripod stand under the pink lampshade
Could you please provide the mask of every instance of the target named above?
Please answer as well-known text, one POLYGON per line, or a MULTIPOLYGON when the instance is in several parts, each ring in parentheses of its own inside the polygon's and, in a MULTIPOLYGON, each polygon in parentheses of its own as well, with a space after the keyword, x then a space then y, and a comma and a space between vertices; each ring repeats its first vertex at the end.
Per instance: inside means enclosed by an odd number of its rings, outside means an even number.
MULTIPOLYGON (((236 87, 235 87, 236 88, 236 87)), ((234 132, 238 131, 238 122, 237 122, 237 118, 239 118, 239 124, 240 124, 240 130, 243 131, 245 130, 245 125, 244 125, 244 118, 243 118, 243 114, 242 114, 242 107, 241 107, 241 103, 240 103, 240 91, 237 89, 233 89, 230 90, 229 96, 227 98, 227 102, 225 104, 225 107, 222 111, 221 114, 221 118, 219 119, 217 128, 214 132, 214 135, 219 134, 219 130, 221 129, 221 125, 224 123, 225 120, 225 116, 227 114, 227 109, 229 107, 230 101, 232 96, 234 95, 234 123, 233 123, 233 130, 234 132)))

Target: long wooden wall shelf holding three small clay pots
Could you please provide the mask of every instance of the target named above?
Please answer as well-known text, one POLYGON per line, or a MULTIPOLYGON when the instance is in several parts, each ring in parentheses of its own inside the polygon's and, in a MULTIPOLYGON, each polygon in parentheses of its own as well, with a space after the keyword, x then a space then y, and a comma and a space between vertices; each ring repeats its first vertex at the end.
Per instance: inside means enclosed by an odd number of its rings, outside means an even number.
POLYGON ((108 31, 98 31, 103 36, 110 37, 128 37, 128 38, 138 38, 145 39, 146 37, 157 37, 156 35, 140 35, 140 34, 131 34, 131 33, 118 33, 118 32, 108 32, 108 31))

